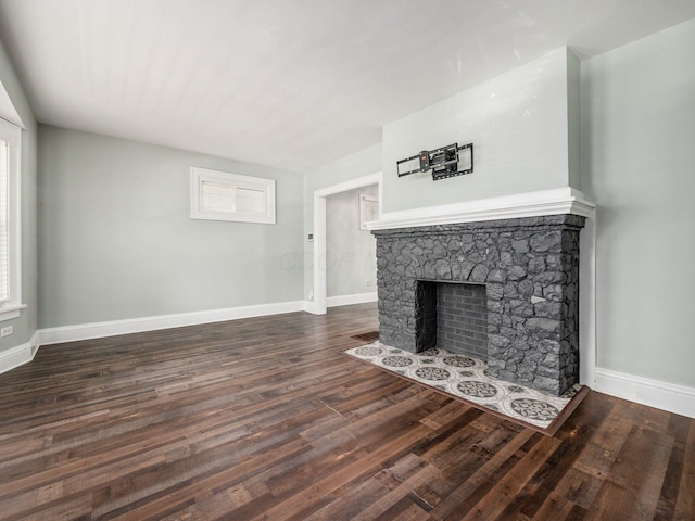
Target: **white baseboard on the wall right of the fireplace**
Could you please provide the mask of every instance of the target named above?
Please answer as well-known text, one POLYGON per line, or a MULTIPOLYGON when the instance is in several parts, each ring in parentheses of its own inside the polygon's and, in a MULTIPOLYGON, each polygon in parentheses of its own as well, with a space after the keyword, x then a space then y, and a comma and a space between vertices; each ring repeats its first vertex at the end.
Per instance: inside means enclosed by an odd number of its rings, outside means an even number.
POLYGON ((695 418, 695 387, 596 368, 596 391, 695 418))

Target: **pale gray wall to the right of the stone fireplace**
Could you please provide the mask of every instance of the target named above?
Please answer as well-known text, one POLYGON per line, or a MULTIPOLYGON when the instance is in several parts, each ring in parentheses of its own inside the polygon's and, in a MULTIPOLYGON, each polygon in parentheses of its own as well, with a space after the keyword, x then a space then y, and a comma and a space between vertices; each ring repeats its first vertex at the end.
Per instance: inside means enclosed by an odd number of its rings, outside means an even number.
POLYGON ((695 385, 695 21, 582 64, 597 365, 695 385))

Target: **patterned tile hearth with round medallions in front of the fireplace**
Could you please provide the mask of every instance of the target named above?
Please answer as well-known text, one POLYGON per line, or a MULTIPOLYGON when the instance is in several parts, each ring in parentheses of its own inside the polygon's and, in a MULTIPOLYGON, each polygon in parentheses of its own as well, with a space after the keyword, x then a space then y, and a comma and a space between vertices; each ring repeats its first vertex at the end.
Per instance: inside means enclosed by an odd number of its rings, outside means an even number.
POLYGON ((557 397, 504 382, 485 373, 484 361, 440 348, 408 353, 374 342, 344 353, 546 434, 557 430, 556 420, 569 416, 585 394, 580 393, 581 385, 557 397), (565 410, 570 404, 571 410, 565 410))

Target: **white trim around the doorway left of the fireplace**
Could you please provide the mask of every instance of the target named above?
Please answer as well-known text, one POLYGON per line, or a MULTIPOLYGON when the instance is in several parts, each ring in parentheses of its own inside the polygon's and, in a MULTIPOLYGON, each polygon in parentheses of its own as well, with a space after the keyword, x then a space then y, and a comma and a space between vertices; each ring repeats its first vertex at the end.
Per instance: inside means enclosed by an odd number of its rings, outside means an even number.
POLYGON ((381 173, 358 177, 350 181, 314 191, 314 305, 311 313, 326 314, 326 198, 356 188, 379 187, 379 215, 381 215, 381 173))

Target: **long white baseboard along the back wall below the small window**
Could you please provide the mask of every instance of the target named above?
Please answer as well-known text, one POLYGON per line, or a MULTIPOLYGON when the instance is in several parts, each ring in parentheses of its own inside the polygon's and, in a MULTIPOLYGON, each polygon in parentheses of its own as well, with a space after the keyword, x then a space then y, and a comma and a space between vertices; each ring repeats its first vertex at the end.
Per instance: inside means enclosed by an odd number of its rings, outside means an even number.
POLYGON ((305 312, 307 303, 304 301, 281 302, 276 304, 261 304, 255 306, 230 307, 207 312, 179 313, 156 317, 132 318, 126 320, 111 320, 106 322, 81 323, 39 330, 40 345, 75 342, 79 340, 101 339, 117 334, 140 333, 160 329, 180 328, 199 323, 224 322, 240 318, 279 315, 282 313, 305 312))

